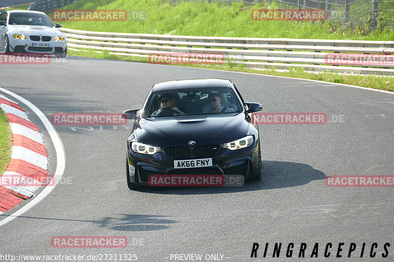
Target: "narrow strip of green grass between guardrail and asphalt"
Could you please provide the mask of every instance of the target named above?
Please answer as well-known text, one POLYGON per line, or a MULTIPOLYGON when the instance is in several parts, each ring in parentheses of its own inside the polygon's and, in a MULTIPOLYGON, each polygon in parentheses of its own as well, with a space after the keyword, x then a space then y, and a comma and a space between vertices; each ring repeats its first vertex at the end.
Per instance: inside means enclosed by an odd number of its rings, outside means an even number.
MULTIPOLYGON (((148 62, 148 58, 113 55, 113 54, 109 54, 106 51, 102 52, 101 54, 96 53, 95 50, 85 50, 85 51, 73 51, 69 49, 67 53, 70 56, 82 56, 82 57, 103 58, 103 59, 113 59, 113 60, 133 61, 133 62, 146 62, 146 63, 148 62)), ((351 75, 351 74, 342 75, 342 74, 335 74, 329 72, 314 74, 314 73, 305 72, 302 68, 294 68, 294 69, 291 68, 289 72, 278 72, 275 71, 274 69, 262 71, 259 69, 246 68, 243 66, 243 64, 235 64, 232 63, 231 61, 227 61, 221 65, 179 65, 179 66, 189 66, 189 67, 216 69, 216 70, 248 72, 248 73, 286 76, 286 77, 294 77, 294 78, 302 78, 302 79, 312 79, 312 80, 320 80, 320 81, 326 81, 331 83, 346 84, 346 85, 353 85, 359 87, 368 87, 368 88, 394 92, 393 77, 374 76, 374 75, 361 76, 361 75, 351 75)))

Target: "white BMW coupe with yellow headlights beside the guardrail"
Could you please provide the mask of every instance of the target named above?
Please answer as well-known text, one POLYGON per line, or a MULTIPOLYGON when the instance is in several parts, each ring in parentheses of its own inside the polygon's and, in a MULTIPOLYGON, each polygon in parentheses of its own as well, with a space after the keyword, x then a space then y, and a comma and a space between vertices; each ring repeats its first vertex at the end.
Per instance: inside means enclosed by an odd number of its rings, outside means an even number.
POLYGON ((43 12, 11 10, 0 13, 0 50, 66 57, 66 36, 43 12))

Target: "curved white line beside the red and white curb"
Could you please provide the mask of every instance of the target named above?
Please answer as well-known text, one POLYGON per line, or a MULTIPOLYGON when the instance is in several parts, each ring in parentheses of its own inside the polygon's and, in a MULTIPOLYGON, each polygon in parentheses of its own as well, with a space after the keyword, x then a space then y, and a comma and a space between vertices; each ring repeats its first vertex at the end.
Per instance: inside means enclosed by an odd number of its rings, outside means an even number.
POLYGON ((41 200, 43 200, 51 191, 56 187, 56 185, 59 183, 60 179, 62 178, 64 171, 65 171, 65 166, 66 166, 66 154, 65 150, 63 147, 62 140, 59 137, 59 134, 56 132, 55 128, 51 124, 51 122, 46 118, 46 116, 36 107, 34 106, 31 102, 26 100, 25 98, 8 91, 7 89, 4 89, 0 87, 0 91, 9 94, 10 96, 14 97, 15 99, 21 101, 23 104, 25 104, 28 108, 30 108, 34 114, 36 114, 42 123, 44 124, 45 128, 48 131, 49 136, 52 139, 52 143, 55 146, 55 151, 56 151, 56 171, 55 171, 55 183, 53 186, 47 186, 42 190, 42 192, 34 197, 28 204, 26 204, 24 207, 19 209, 18 211, 12 213, 8 217, 4 218, 3 220, 0 221, 0 227, 2 225, 5 225, 6 223, 10 222, 11 220, 17 218, 18 216, 22 215, 26 211, 28 211, 30 208, 32 208, 34 205, 38 204, 41 200))

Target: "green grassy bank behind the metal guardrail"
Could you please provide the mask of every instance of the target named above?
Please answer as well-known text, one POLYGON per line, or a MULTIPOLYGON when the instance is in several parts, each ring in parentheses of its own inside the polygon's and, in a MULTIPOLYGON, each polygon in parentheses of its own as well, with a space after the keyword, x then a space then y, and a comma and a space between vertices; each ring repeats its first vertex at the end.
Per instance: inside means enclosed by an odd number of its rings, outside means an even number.
MULTIPOLYGON (((124 9, 146 10, 147 19, 142 21, 54 21, 65 28, 172 35, 269 37, 269 38, 310 38, 310 39, 352 39, 352 40, 394 40, 394 30, 381 22, 374 32, 369 31, 369 18, 358 26, 332 21, 254 21, 251 9, 262 4, 244 6, 183 1, 173 5, 163 0, 80 0, 63 9, 124 9)), ((279 8, 277 3, 264 4, 264 8, 279 8)), ((284 7, 282 7, 284 8, 284 7)), ((294 7, 292 7, 294 8, 294 7)), ((360 23, 359 23, 360 24, 360 23)))

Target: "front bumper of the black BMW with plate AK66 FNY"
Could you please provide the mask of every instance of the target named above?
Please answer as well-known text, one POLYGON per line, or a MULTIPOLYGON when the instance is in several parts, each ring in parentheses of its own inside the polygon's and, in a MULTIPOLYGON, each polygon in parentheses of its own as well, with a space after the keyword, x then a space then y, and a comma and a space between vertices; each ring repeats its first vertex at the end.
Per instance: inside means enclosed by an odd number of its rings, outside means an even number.
POLYGON ((170 157, 163 151, 154 155, 140 154, 128 146, 128 166, 131 182, 148 184, 149 175, 242 175, 251 179, 258 175, 259 140, 237 150, 220 147, 214 155, 198 157, 170 157), (174 160, 212 158, 212 167, 175 169, 174 160))

